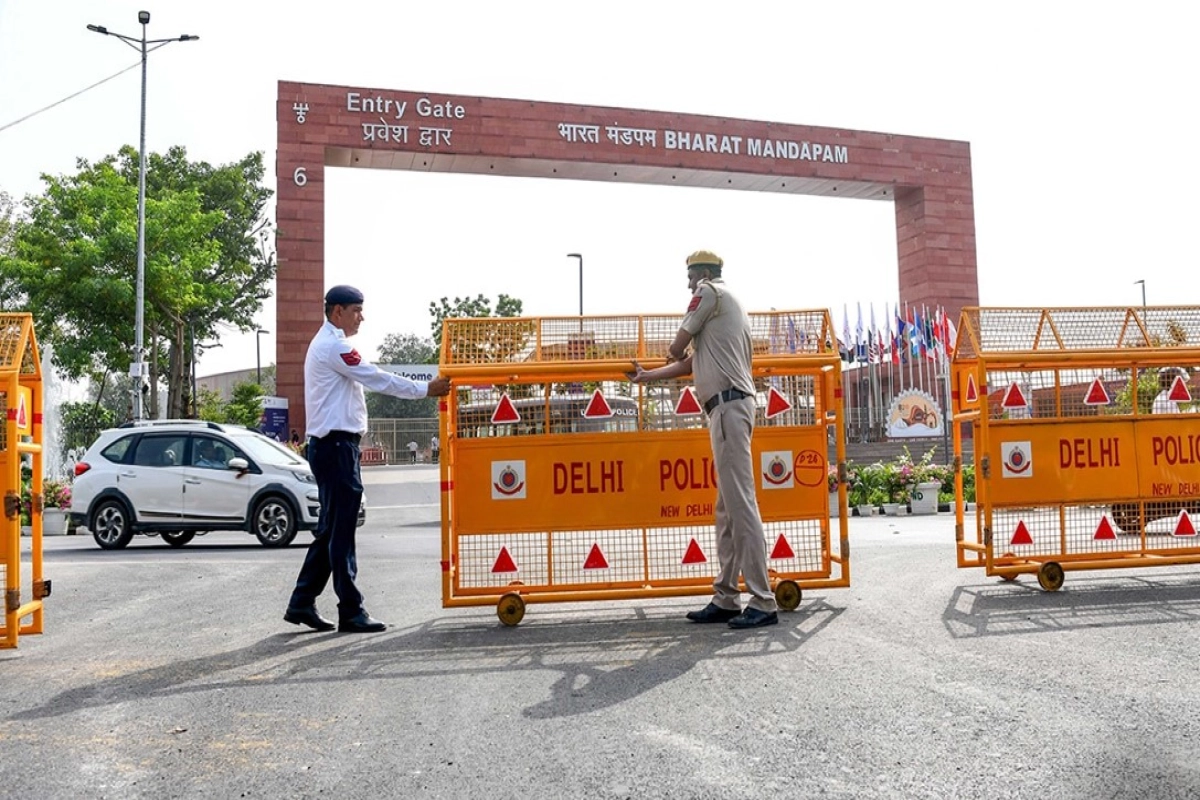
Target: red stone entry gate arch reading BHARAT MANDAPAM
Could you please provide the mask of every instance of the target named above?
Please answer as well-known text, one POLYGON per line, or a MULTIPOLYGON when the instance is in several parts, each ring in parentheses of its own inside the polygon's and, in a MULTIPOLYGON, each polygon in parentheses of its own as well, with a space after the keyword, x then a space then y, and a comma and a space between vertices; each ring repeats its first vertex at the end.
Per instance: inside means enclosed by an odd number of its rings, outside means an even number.
POLYGON ((276 121, 276 391, 300 428, 305 349, 322 324, 329 167, 888 201, 895 206, 900 301, 952 314, 978 303, 965 142, 286 80, 276 121))

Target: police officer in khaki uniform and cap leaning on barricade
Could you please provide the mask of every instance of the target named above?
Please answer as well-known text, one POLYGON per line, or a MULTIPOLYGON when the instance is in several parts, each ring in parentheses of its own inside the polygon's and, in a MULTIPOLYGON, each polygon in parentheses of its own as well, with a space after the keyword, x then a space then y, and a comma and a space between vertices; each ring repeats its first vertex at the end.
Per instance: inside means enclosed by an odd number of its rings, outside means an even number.
POLYGON ((722 265, 720 258, 703 249, 688 257, 691 302, 671 343, 671 357, 658 369, 643 369, 635 361, 629 379, 641 384, 695 374, 696 395, 708 414, 716 465, 716 555, 721 569, 713 581, 713 600, 689 612, 688 619, 761 627, 776 624, 779 615, 767 577, 767 540, 750 451, 755 421, 750 318, 725 287, 722 265), (738 576, 750 594, 745 609, 738 576))

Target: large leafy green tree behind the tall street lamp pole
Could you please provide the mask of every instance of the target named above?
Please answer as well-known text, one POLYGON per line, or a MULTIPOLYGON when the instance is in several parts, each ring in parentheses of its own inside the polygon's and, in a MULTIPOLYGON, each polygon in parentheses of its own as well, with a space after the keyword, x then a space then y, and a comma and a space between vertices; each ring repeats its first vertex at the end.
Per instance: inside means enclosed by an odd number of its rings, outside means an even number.
MULTIPOLYGON (((275 276, 270 190, 262 154, 212 167, 182 148, 148 157, 145 327, 150 384, 166 383, 168 416, 190 410, 191 342, 217 326, 248 331, 275 276), (193 339, 194 336, 194 339, 193 339)), ((137 270, 138 154, 122 148, 76 175, 43 175, 25 199, 12 247, 0 249, 0 302, 34 311, 68 379, 128 373, 137 270)), ((149 392, 158 416, 157 391, 149 392)))

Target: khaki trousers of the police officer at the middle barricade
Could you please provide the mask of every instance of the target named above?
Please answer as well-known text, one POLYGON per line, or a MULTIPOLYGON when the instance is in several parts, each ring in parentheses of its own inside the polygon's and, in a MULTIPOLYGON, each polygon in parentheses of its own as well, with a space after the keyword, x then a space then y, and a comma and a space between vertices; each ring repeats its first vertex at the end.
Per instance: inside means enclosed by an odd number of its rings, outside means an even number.
POLYGON ((713 581, 713 602, 721 608, 740 608, 740 576, 750 594, 746 607, 773 612, 775 595, 767 577, 767 539, 758 516, 750 452, 754 415, 754 397, 744 397, 721 403, 708 417, 716 464, 716 558, 721 564, 713 581))

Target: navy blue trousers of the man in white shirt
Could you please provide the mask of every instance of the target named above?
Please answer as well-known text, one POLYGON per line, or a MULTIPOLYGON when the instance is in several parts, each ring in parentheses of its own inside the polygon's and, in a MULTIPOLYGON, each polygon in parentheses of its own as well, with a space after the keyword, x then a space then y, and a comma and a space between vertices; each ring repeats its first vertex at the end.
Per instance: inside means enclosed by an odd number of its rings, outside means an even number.
POLYGON ((362 613, 362 593, 354 585, 359 565, 354 534, 362 503, 362 475, 359 471, 356 441, 331 434, 308 439, 308 464, 317 479, 320 516, 317 530, 292 591, 292 608, 310 608, 325 590, 330 577, 337 595, 337 616, 350 619, 362 613))

